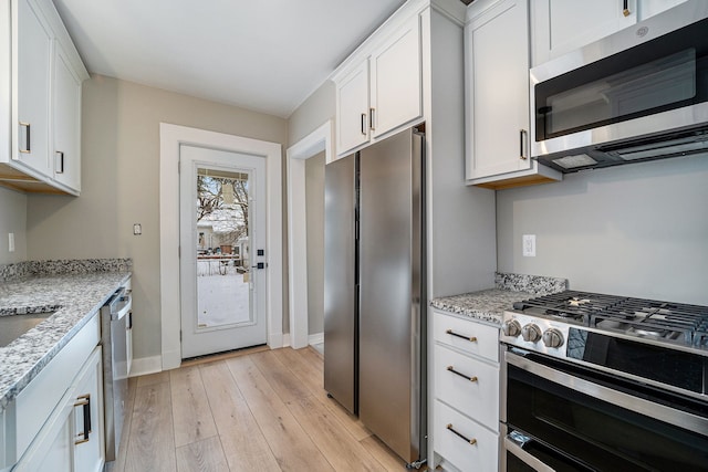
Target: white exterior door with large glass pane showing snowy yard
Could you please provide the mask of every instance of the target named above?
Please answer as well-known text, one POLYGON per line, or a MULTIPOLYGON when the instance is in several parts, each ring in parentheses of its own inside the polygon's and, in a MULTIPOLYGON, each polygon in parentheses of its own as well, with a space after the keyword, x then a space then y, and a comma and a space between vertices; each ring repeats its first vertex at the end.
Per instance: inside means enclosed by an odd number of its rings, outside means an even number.
POLYGON ((181 145, 181 357, 264 344, 266 158, 181 145))

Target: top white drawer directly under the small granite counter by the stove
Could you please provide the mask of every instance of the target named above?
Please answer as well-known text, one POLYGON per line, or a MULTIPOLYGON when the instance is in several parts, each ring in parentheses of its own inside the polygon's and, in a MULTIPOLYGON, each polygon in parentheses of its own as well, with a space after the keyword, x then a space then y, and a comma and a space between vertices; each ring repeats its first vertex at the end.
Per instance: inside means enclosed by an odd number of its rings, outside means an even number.
POLYGON ((493 326, 434 312, 433 336, 435 340, 466 353, 499 361, 499 328, 493 326))

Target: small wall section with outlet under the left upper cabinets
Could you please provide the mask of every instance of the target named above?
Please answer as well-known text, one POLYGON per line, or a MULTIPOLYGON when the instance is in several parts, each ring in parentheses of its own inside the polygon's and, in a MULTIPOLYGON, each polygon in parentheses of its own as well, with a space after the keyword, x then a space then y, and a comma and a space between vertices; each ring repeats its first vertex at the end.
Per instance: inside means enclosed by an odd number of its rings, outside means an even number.
POLYGON ((0 264, 27 260, 27 196, 0 187, 0 264), (9 251, 8 233, 14 233, 14 252, 9 251))

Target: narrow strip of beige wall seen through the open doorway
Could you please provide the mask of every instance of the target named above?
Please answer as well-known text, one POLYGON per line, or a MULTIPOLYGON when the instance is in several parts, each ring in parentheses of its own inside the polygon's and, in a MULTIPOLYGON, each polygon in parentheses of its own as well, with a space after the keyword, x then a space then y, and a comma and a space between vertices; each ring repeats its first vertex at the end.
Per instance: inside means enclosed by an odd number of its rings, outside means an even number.
POLYGON ((324 332, 324 153, 305 161, 308 334, 324 332))

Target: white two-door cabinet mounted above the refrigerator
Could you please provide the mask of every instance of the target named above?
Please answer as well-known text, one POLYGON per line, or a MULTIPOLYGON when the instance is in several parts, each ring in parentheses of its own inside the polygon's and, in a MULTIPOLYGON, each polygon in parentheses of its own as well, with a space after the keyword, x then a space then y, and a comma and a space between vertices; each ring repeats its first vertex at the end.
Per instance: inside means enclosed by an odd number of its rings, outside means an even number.
POLYGON ((369 51, 333 75, 339 156, 423 116, 417 12, 400 24, 377 31, 367 46, 369 51))

